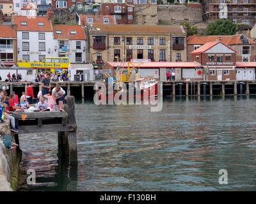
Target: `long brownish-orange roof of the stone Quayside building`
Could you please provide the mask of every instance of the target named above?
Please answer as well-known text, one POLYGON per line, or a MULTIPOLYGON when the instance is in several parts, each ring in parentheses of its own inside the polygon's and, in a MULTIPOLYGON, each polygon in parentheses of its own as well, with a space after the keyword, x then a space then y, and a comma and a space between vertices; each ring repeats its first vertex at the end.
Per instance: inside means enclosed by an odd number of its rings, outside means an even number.
POLYGON ((106 25, 106 24, 93 24, 91 32, 111 32, 111 33, 186 33, 181 25, 106 25))

